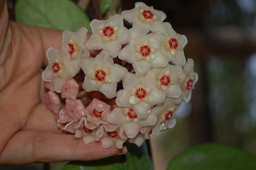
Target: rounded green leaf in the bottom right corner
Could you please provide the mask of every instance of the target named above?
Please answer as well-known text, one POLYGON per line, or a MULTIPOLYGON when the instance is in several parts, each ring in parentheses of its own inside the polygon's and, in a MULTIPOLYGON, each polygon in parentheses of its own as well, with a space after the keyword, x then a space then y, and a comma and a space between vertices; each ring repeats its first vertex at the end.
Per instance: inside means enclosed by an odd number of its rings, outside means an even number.
POLYGON ((192 147, 177 155, 168 170, 236 170, 255 169, 256 156, 238 148, 208 143, 192 147))

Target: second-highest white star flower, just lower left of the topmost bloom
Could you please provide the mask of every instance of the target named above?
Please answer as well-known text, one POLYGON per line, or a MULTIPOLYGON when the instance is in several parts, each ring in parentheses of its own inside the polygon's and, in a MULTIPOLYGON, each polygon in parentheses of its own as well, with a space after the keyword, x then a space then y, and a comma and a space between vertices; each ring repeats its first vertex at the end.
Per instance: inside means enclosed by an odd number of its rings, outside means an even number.
POLYGON ((122 45, 128 43, 128 30, 121 15, 115 14, 108 20, 92 20, 92 36, 87 41, 88 49, 103 49, 116 57, 122 45))

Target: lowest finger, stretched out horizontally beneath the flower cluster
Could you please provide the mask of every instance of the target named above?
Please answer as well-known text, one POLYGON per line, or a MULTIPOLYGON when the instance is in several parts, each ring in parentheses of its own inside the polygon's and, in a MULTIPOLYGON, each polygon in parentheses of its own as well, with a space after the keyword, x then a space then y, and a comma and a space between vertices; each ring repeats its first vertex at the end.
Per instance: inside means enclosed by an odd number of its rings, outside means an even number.
POLYGON ((0 163, 88 161, 126 151, 126 148, 118 150, 114 146, 105 149, 99 142, 85 145, 72 135, 23 130, 9 140, 1 153, 0 163))

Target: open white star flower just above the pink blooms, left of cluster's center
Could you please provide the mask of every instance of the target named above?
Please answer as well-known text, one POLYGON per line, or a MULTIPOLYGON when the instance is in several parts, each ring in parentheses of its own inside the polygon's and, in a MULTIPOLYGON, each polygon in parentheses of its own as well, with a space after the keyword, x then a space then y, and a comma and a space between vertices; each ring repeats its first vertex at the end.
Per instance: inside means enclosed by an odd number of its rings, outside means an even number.
POLYGON ((83 59, 80 65, 85 73, 83 89, 98 90, 108 98, 116 96, 117 82, 124 79, 127 74, 127 69, 114 64, 106 51, 101 51, 95 58, 83 59))

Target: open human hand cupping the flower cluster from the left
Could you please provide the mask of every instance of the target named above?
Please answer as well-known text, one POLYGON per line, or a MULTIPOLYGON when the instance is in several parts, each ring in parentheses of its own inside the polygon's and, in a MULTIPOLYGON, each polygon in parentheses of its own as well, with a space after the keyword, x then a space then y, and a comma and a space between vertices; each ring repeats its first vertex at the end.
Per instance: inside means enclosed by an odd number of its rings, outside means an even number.
POLYGON ((40 101, 46 50, 60 49, 62 32, 9 20, 0 1, 0 164, 92 160, 124 154, 127 148, 85 145, 63 134, 54 114, 40 101))

